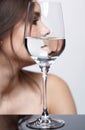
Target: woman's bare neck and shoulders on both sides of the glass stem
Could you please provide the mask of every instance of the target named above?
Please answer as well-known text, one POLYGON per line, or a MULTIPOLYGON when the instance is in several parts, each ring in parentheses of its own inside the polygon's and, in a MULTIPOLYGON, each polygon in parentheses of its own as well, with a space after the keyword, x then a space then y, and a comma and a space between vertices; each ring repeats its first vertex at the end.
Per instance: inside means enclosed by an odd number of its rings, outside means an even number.
MULTIPOLYGON (((12 75, 9 64, 5 62, 0 73, 0 114, 41 114, 41 74, 19 70, 12 75)), ((47 82, 47 107, 53 114, 76 113, 68 86, 51 74, 47 82)))

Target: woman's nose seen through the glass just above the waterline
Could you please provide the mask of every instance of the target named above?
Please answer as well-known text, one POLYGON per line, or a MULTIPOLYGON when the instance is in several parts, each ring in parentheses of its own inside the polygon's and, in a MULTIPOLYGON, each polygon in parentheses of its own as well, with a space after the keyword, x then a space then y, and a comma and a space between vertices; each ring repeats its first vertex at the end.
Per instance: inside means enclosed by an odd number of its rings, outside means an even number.
POLYGON ((40 23, 40 35, 41 37, 46 37, 47 35, 50 34, 50 30, 48 27, 45 26, 45 24, 43 24, 42 22, 40 23))

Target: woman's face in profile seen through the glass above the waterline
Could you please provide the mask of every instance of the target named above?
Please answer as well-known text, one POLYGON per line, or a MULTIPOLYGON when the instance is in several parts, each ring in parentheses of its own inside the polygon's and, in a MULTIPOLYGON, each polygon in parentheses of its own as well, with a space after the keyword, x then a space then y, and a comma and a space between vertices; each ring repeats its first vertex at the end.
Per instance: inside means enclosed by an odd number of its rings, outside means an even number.
POLYGON ((45 26, 41 20, 40 5, 36 2, 32 20, 31 36, 32 37, 44 37, 50 33, 50 30, 45 26))

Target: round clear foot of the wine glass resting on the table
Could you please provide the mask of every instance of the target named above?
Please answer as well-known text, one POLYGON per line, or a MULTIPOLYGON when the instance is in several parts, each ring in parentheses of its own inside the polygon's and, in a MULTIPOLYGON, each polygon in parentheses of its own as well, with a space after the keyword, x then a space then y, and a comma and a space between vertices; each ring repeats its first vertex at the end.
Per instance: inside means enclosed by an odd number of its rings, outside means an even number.
MULTIPOLYGON (((22 124, 21 124, 22 125, 22 124)), ((24 121, 24 128, 27 130, 29 128, 32 129, 57 129, 61 128, 65 125, 63 120, 56 120, 49 116, 41 116, 35 120, 29 121, 26 119, 24 121)))

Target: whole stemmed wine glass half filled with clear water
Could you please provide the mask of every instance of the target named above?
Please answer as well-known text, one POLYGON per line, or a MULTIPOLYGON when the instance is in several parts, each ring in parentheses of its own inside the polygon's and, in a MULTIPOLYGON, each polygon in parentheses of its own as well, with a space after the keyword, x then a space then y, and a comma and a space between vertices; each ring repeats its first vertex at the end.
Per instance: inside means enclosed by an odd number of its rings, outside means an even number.
POLYGON ((36 0, 28 3, 25 21, 25 47, 39 65, 43 79, 43 111, 34 121, 26 120, 26 126, 35 129, 59 128, 63 120, 55 120, 48 114, 46 82, 50 65, 65 47, 64 22, 61 3, 57 0, 36 0))

